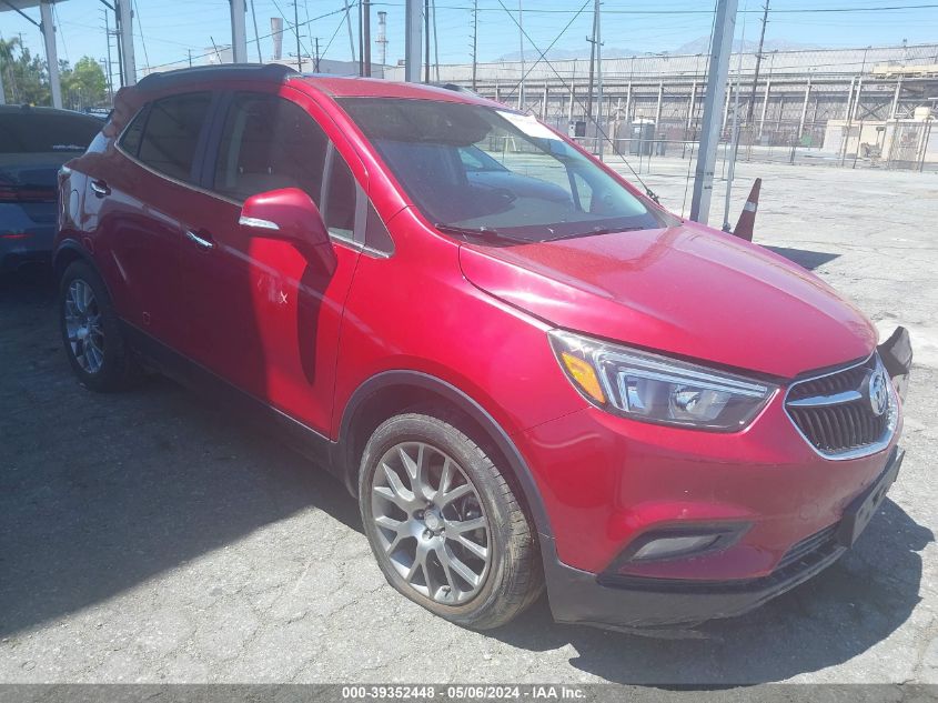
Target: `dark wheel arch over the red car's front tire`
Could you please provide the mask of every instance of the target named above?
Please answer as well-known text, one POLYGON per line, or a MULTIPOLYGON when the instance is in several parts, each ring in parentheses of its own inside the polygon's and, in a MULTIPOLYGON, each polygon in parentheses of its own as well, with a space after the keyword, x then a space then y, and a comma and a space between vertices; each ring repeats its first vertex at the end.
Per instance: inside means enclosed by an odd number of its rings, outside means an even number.
POLYGON ((511 436, 474 399, 452 383, 420 371, 384 371, 362 383, 342 414, 333 465, 352 494, 357 493, 359 458, 372 432, 387 418, 420 406, 433 405, 457 413, 470 426, 460 429, 494 451, 508 479, 521 490, 521 499, 544 536, 553 536, 537 483, 511 436))

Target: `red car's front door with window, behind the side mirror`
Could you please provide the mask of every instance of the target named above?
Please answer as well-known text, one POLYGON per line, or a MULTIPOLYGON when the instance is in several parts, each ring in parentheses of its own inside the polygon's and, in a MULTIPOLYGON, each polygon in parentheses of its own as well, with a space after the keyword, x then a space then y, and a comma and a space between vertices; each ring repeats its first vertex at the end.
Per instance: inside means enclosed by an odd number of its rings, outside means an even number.
MULTIPOLYGON (((366 209, 346 160, 356 157, 339 152, 329 118, 289 87, 235 91, 225 103, 203 168, 211 194, 191 212, 182 248, 186 353, 325 434, 343 305, 362 248, 364 212, 357 215, 366 209), (323 212, 333 265, 239 225, 246 198, 288 187, 323 212)), ((363 174, 361 163, 354 168, 363 174)))

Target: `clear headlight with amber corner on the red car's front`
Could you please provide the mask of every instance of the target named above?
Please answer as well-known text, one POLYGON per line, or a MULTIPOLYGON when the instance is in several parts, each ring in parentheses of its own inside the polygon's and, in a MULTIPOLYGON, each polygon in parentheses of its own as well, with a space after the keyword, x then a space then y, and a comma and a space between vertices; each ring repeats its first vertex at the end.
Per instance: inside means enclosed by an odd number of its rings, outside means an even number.
POLYGON ((561 368, 589 402, 633 420, 733 432, 748 425, 777 390, 562 330, 549 338, 561 368))

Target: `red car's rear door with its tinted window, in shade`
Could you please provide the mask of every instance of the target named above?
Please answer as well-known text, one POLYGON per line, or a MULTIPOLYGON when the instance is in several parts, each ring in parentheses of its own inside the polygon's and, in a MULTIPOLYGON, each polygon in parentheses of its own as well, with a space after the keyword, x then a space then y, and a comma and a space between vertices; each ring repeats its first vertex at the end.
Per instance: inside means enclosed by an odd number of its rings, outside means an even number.
POLYGON ((88 173, 85 215, 120 315, 176 350, 185 345, 180 247, 200 207, 198 167, 216 99, 196 91, 153 100, 88 173))

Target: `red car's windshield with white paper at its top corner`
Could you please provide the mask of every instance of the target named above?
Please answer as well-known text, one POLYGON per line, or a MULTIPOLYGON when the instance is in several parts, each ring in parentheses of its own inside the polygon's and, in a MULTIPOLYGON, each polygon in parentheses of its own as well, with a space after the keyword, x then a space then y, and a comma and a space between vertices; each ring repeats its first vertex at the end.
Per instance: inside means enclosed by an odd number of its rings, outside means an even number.
POLYGON ((451 230, 544 241, 672 224, 534 118, 430 100, 342 106, 427 219, 451 230))

